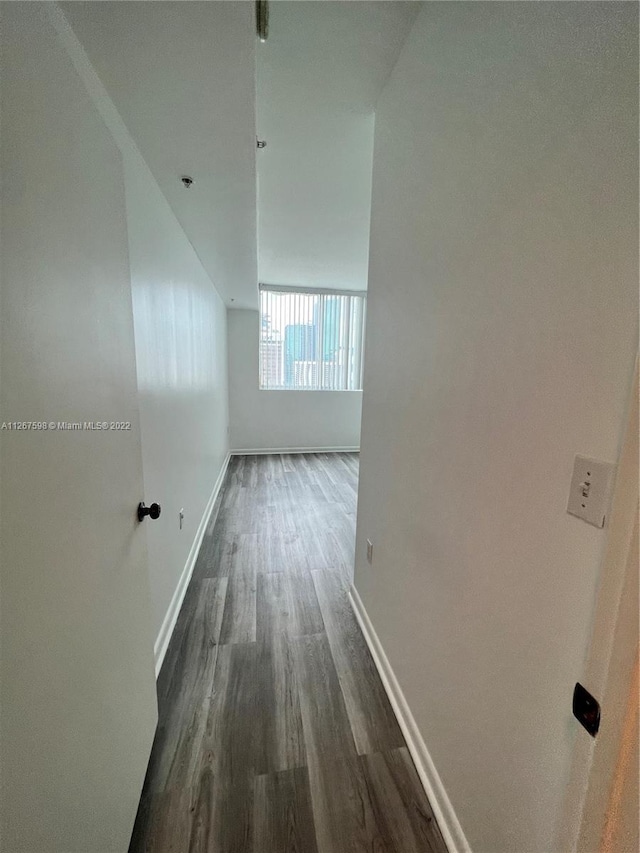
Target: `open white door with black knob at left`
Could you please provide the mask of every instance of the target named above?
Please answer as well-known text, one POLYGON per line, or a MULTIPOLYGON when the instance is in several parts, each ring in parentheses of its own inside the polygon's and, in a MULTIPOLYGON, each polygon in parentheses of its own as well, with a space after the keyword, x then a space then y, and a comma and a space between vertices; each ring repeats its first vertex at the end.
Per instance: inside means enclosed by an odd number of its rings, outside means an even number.
POLYGON ((0 848, 124 853, 157 721, 121 153, 49 18, 0 5, 0 848))

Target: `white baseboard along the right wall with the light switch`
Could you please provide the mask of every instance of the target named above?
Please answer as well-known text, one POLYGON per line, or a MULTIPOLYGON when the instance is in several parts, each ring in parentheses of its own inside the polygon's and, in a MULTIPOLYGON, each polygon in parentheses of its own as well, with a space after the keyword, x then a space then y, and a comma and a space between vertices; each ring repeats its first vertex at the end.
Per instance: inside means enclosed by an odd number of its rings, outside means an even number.
POLYGON ((447 792, 438 775, 433 759, 429 754, 427 745, 422 739, 411 709, 402 692, 402 688, 398 684, 398 680, 369 619, 358 590, 353 584, 349 591, 349 601, 369 646, 369 651, 382 679, 384 689, 387 691, 391 707, 402 729, 402 734, 407 742, 407 747, 413 758, 413 763, 418 771, 418 776, 433 809, 447 849, 449 853, 472 853, 469 842, 465 837, 460 826, 460 821, 451 804, 451 800, 447 796, 447 792))

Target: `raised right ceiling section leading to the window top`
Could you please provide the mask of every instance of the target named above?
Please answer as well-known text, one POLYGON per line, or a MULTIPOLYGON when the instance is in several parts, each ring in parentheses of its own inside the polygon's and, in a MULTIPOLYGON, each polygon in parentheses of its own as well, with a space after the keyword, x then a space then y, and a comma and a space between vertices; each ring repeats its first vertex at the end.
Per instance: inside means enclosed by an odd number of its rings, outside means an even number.
POLYGON ((258 44, 258 274, 367 286, 373 109, 419 3, 271 3, 258 44))

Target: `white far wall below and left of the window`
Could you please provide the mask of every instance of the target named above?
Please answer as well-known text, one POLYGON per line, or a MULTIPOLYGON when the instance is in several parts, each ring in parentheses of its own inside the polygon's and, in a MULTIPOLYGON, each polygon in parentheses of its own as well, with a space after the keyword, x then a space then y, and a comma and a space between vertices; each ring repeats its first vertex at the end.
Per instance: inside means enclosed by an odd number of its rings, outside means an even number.
POLYGON ((227 312, 233 450, 360 446, 362 391, 261 391, 258 312, 227 312))

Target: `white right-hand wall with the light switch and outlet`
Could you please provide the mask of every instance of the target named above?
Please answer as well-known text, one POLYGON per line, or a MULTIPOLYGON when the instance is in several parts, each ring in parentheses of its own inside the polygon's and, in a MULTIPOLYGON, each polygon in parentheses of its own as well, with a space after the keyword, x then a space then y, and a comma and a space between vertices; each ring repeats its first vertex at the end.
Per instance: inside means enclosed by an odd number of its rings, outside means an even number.
POLYGON ((637 349, 637 69, 635 4, 430 3, 378 103, 355 584, 477 853, 558 850, 607 535, 567 490, 617 459, 637 349))

